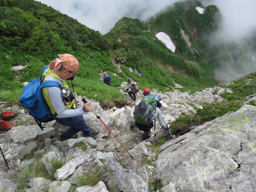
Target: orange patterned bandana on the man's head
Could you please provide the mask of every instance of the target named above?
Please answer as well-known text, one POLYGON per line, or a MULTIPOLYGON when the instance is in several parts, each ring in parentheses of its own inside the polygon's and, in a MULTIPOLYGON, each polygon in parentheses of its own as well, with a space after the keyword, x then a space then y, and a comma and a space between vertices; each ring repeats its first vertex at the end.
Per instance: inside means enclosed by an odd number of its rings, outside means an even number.
POLYGON ((55 60, 51 61, 49 64, 49 67, 53 67, 56 69, 60 69, 60 66, 62 65, 64 68, 68 69, 69 71, 76 71, 79 67, 78 60, 68 53, 66 54, 59 54, 59 58, 56 58, 55 60))

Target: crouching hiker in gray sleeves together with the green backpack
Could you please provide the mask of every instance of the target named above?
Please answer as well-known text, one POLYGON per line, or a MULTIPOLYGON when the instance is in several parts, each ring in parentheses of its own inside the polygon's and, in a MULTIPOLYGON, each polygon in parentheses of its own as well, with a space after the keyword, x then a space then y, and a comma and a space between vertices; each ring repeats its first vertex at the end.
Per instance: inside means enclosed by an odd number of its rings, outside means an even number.
POLYGON ((143 131, 143 140, 151 137, 150 129, 154 126, 154 121, 156 124, 156 118, 158 118, 159 124, 162 128, 168 129, 168 127, 164 124, 163 115, 160 110, 162 107, 162 102, 163 100, 160 97, 157 97, 156 99, 153 97, 144 97, 140 104, 135 107, 133 112, 134 120, 131 123, 131 129, 138 127, 139 130, 143 131), (152 112, 149 110, 146 117, 143 118, 145 115, 145 110, 147 110, 147 106, 149 109, 153 109, 152 112), (147 117, 149 117, 149 119, 147 119, 147 117))

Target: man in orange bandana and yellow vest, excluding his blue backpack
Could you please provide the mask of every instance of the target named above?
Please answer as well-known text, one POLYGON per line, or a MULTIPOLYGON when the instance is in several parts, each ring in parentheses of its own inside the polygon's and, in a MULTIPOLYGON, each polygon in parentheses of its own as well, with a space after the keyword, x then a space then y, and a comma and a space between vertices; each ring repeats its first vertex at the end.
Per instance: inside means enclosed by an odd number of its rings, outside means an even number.
POLYGON ((58 87, 50 86, 44 87, 42 91, 52 114, 58 114, 55 120, 59 124, 69 127, 67 131, 60 134, 59 140, 76 139, 76 133, 80 131, 83 132, 84 137, 98 135, 99 131, 92 130, 84 122, 83 117, 83 114, 93 109, 92 104, 87 102, 84 103, 82 108, 76 108, 74 98, 62 96, 63 93, 70 92, 65 80, 74 79, 79 67, 78 60, 68 53, 59 54, 58 56, 58 58, 50 62, 49 67, 44 71, 43 81, 56 81, 61 84, 62 90, 58 87), (65 99, 68 99, 68 101, 65 99))

